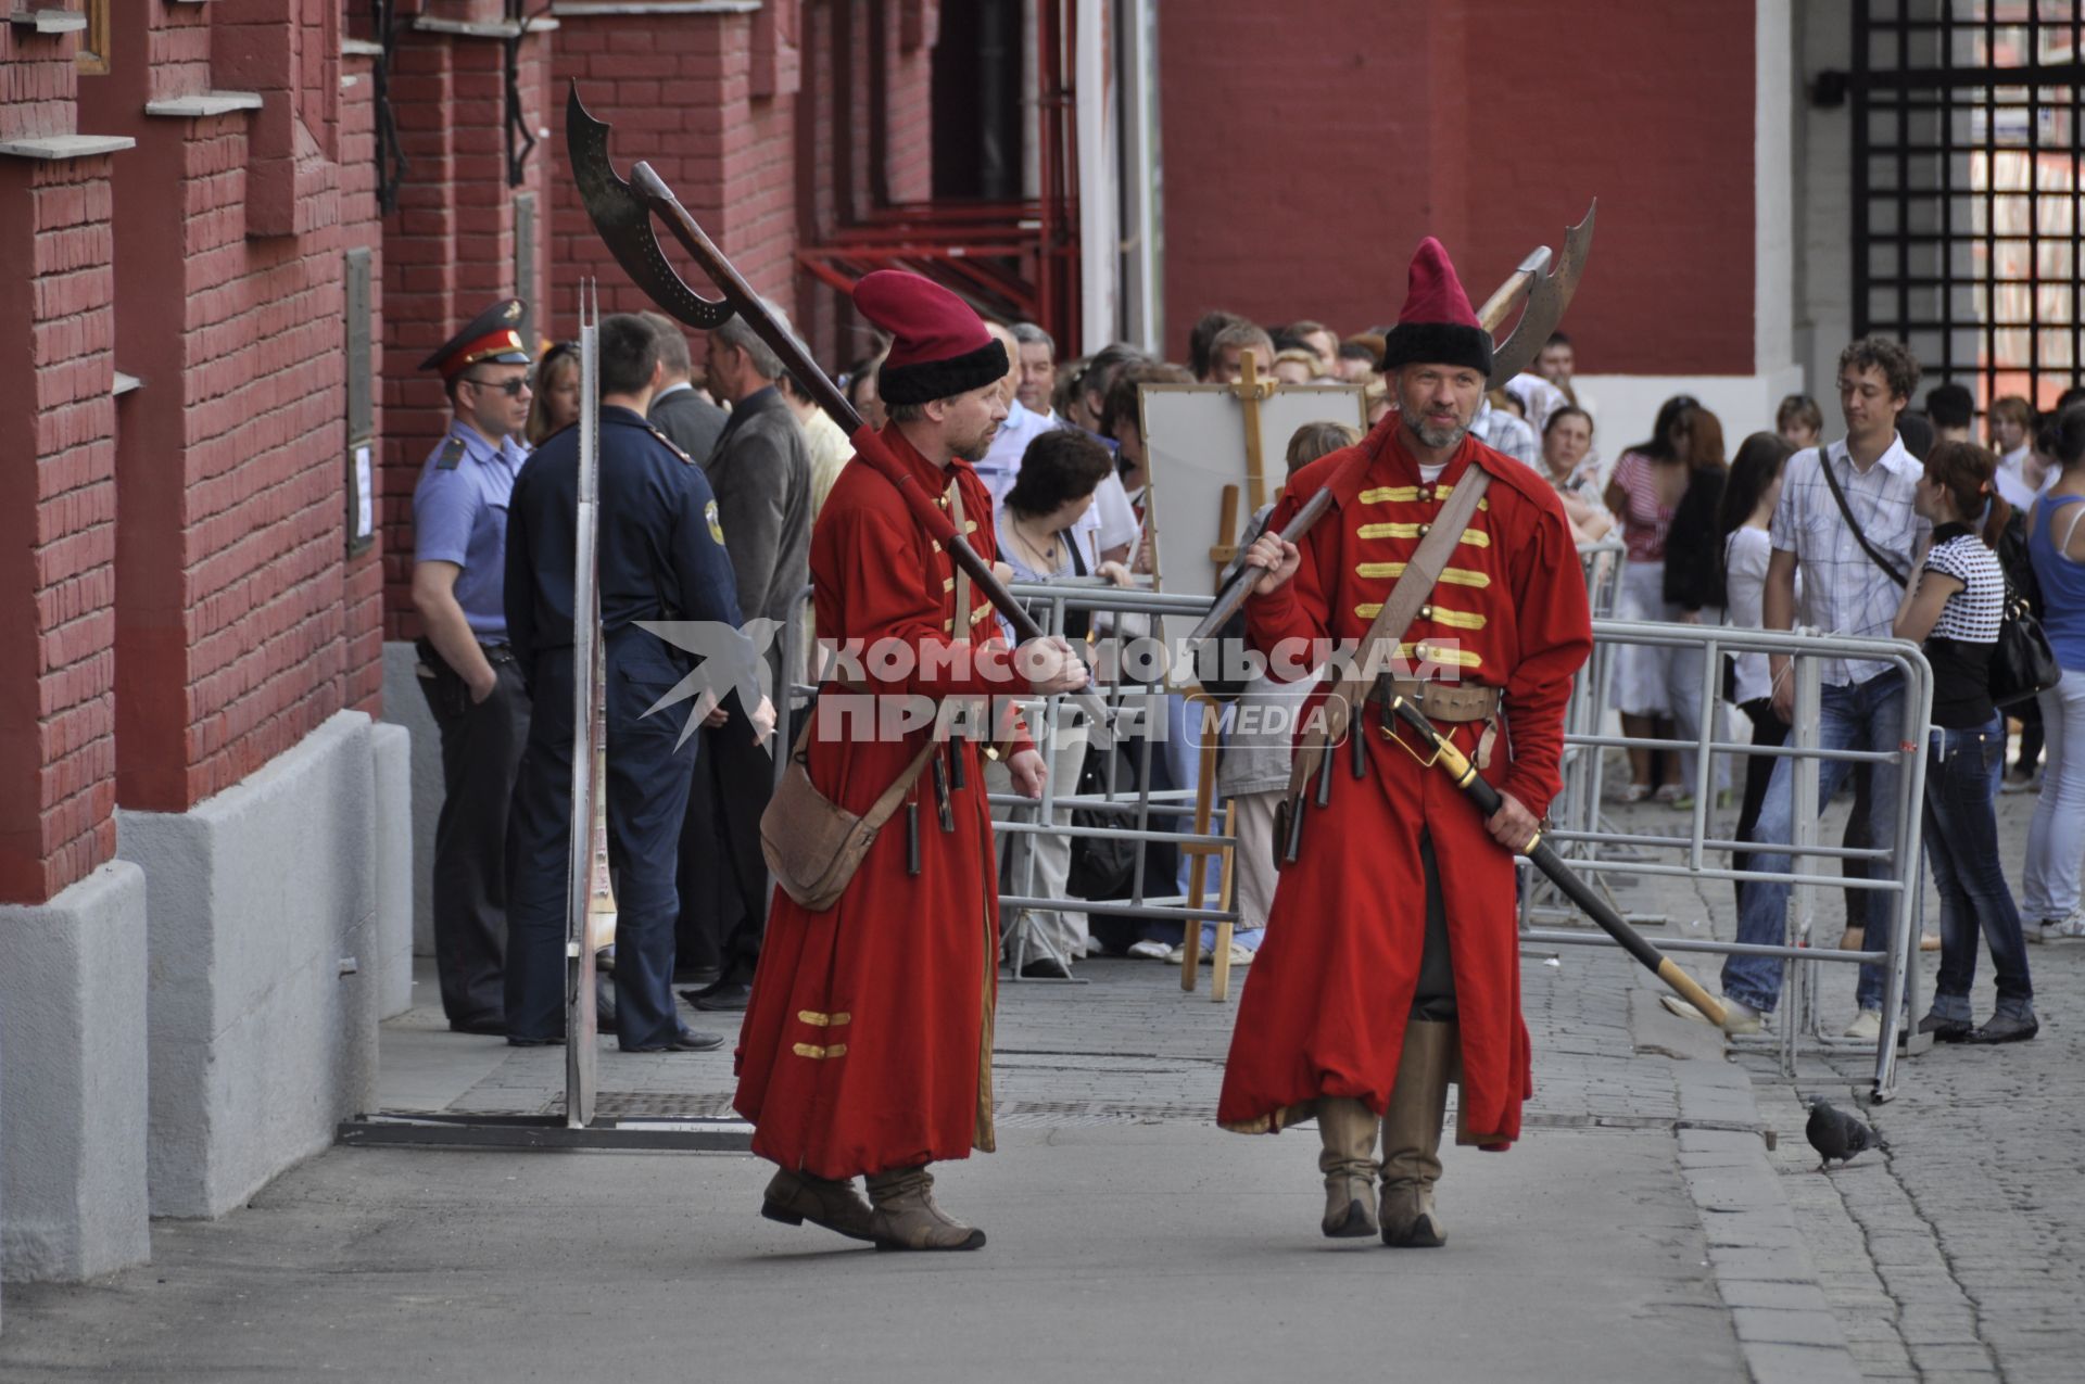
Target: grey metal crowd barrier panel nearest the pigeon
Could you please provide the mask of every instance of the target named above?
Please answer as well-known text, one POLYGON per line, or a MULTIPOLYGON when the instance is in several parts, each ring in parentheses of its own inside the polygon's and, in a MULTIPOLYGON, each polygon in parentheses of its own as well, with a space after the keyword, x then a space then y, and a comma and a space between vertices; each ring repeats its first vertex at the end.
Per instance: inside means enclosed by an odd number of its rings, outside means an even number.
MULTIPOLYGON (((1856 1040, 1826 1034, 1820 1025, 1816 1005, 1816 963, 1876 963, 1887 965, 1883 990, 1883 1032, 1874 1044, 1874 1096, 1887 1101, 1895 1094, 1897 1034, 1904 1028, 1906 996, 1918 996, 1918 936, 1924 907, 1924 871, 1920 859, 1920 825, 1927 780, 1927 727, 1933 719, 1933 671, 1916 644, 1908 640, 1822 636, 1816 632, 1737 629, 1731 625, 1676 625, 1662 621, 1614 621, 1593 623, 1595 648, 1612 652, 1624 644, 1658 646, 1701 657, 1706 669, 1714 669, 1724 652, 1768 652, 1789 654, 1795 677, 1795 715, 1789 742, 1783 746, 1753 746, 1716 738, 1718 677, 1701 679, 1701 734, 1695 740, 1633 740, 1608 736, 1595 730, 1566 727, 1566 746, 1591 752, 1599 759, 1605 750, 1660 748, 1693 750, 1695 782, 1693 809, 1687 813, 1687 832, 1681 836, 1626 834, 1599 825, 1599 800, 1580 805, 1585 815, 1564 821, 1547 834, 1553 842, 1568 842, 1572 867, 1591 875, 1678 875, 1691 880, 1733 880, 1733 882, 1779 882, 1789 884, 1791 909, 1787 932, 1781 944, 1743 944, 1712 940, 1660 940, 1668 953, 1712 953, 1779 957, 1783 967, 1781 1005, 1776 1007, 1779 1034, 1760 1038, 1733 1038, 1739 1048, 1779 1051, 1781 1067, 1795 1073, 1795 1055, 1804 1034, 1822 1048, 1858 1048, 1856 1040), (1818 679, 1820 659, 1860 659, 1887 663, 1904 675, 1904 725, 1895 750, 1826 750, 1818 744, 1822 686, 1818 679), (1793 840, 1783 850, 1779 844, 1739 842, 1708 836, 1708 815, 1714 800, 1714 755, 1756 755, 1789 759, 1793 794, 1793 840), (1893 805, 1893 840, 1883 846, 1845 848, 1818 842, 1818 767, 1822 761, 1843 763, 1895 763, 1897 796, 1893 805), (1620 846, 1628 857, 1616 857, 1620 846), (1678 850, 1678 863, 1645 861, 1641 850, 1678 850), (1789 855, 1795 869, 1791 873, 1764 873, 1758 869, 1731 869, 1714 865, 1710 855, 1789 855), (1864 861, 1870 865, 1868 878, 1824 875, 1806 871, 1806 859, 1864 861), (1868 890, 1887 894, 1895 913, 1887 948, 1864 950, 1818 948, 1810 944, 1816 921, 1818 890, 1868 890)), ((1595 775, 1597 784, 1597 775, 1595 775)), ((1532 898, 1535 890, 1530 890, 1532 898)), ((1526 900, 1524 900, 1526 915, 1526 900)), ((1522 940, 1535 944, 1605 944, 1614 942, 1603 932, 1543 930, 1526 925, 1522 919, 1522 940)), ((1924 1051, 1927 1040, 1914 1034, 1910 1051, 1924 1051)))

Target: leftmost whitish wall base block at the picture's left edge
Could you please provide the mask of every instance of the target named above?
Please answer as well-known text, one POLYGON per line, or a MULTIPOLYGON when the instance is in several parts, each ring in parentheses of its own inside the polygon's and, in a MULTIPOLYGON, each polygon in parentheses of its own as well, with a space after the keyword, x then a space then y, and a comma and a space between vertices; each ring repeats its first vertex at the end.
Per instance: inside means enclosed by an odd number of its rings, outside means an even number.
POLYGON ((0 1274, 79 1280, 152 1257, 146 882, 125 861, 0 907, 0 1274))

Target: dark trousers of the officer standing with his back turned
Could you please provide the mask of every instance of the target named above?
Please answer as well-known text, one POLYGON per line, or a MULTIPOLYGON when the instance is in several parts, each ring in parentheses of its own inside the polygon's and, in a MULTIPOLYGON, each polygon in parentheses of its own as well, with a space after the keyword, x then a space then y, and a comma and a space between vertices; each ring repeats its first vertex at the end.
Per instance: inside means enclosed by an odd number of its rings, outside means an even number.
MULTIPOLYGON (((632 627, 607 644, 607 817, 615 875, 615 1028, 623 1048, 655 1048, 673 1009, 676 846, 694 740, 676 748, 688 702, 644 711, 686 675, 669 648, 632 627)), ((509 832, 507 1034, 565 1032, 565 917, 571 878, 571 650, 536 659, 536 715, 509 832)))

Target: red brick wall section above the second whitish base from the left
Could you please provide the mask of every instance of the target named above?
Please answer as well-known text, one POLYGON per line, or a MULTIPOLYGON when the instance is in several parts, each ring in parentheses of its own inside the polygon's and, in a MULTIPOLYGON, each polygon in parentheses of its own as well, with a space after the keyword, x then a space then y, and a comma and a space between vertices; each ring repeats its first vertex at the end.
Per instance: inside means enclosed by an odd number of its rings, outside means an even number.
POLYGON ((186 811, 377 709, 342 352, 342 254, 369 244, 373 192, 338 158, 352 131, 367 146, 369 92, 340 88, 340 0, 119 10, 115 71, 81 88, 96 127, 140 142, 115 208, 117 356, 146 381, 117 431, 117 796, 186 811), (263 108, 142 115, 204 75, 263 108))

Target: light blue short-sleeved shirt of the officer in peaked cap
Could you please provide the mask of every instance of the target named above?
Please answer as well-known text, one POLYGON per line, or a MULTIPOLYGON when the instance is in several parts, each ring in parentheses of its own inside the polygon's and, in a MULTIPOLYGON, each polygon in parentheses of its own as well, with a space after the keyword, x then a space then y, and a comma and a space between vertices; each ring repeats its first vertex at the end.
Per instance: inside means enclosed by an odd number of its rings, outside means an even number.
POLYGON ((492 444, 450 421, 413 488, 413 561, 463 569, 457 604, 480 644, 507 642, 507 502, 525 461, 515 438, 492 444))

